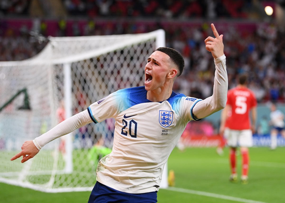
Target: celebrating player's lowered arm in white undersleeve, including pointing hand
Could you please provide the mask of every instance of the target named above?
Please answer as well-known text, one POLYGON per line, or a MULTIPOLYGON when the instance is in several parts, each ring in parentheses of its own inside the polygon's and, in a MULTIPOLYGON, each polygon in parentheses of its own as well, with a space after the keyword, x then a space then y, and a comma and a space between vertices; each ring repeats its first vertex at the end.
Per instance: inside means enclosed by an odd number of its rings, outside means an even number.
POLYGON ((11 161, 18 159, 23 156, 22 163, 33 158, 40 149, 51 142, 52 140, 71 133, 72 131, 91 123, 92 120, 89 116, 87 110, 82 111, 56 125, 54 128, 50 129, 48 132, 36 137, 34 140, 25 141, 21 147, 22 151, 11 158, 11 161))

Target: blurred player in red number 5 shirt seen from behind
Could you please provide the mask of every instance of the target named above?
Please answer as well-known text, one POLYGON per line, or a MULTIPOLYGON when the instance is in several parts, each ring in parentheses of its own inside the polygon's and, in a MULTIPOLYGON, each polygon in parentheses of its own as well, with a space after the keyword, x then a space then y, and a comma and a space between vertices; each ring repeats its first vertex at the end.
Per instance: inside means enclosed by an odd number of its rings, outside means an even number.
MULTIPOLYGON (((252 134, 255 132, 257 119, 257 100, 254 93, 247 88, 247 76, 245 74, 239 76, 237 87, 228 91, 227 104, 223 111, 222 121, 225 121, 228 111, 231 111, 232 114, 228 119, 229 132, 227 135, 227 145, 230 147, 230 181, 237 181, 236 150, 237 147, 240 147, 242 155, 241 182, 247 184, 249 172, 248 147, 253 145, 252 134)), ((223 125, 225 124, 223 123, 223 125)))

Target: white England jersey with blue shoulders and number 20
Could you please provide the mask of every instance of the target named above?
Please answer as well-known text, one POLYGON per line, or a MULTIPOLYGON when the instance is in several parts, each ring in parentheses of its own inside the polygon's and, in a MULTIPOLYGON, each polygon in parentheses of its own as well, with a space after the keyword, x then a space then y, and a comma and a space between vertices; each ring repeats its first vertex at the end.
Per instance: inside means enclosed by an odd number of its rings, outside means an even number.
POLYGON ((118 90, 88 107, 94 123, 116 120, 112 152, 100 160, 96 178, 121 192, 157 191, 186 124, 198 120, 192 109, 200 99, 172 92, 168 100, 152 102, 146 93, 143 86, 118 90))

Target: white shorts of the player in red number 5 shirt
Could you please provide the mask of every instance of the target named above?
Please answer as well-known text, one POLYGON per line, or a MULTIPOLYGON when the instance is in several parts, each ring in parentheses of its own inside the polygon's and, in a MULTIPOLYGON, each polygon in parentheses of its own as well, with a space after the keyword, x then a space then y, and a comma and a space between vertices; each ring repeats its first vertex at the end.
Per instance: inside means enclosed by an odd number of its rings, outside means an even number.
POLYGON ((252 147, 252 131, 247 130, 232 130, 229 129, 227 135, 227 145, 230 147, 252 147))

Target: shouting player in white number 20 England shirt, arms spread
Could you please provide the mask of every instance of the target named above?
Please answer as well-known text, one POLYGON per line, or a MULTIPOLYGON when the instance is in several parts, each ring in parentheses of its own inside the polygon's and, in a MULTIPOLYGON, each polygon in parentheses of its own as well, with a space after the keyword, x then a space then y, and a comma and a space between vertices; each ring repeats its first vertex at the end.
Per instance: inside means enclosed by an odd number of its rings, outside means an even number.
POLYGON ((11 160, 34 157, 48 142, 88 123, 115 118, 112 152, 97 166, 89 203, 157 202, 164 165, 188 121, 199 120, 225 107, 227 72, 223 35, 211 24, 215 38, 205 48, 215 62, 213 95, 205 100, 172 91, 184 69, 184 59, 172 48, 157 48, 147 59, 145 86, 118 90, 91 104, 32 141, 11 160), (26 156, 27 155, 27 156, 26 156))

